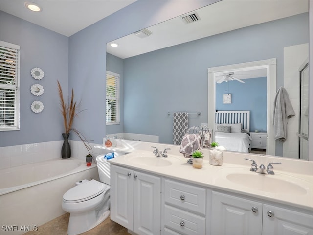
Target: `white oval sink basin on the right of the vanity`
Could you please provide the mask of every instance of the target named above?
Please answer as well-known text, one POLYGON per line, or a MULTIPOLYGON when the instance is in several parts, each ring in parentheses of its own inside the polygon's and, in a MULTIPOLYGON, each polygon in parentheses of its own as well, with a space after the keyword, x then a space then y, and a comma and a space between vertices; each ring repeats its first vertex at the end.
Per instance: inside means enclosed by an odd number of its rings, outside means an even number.
POLYGON ((230 183, 263 192, 304 195, 312 190, 310 182, 287 174, 265 175, 251 172, 248 168, 224 168, 220 171, 230 183))

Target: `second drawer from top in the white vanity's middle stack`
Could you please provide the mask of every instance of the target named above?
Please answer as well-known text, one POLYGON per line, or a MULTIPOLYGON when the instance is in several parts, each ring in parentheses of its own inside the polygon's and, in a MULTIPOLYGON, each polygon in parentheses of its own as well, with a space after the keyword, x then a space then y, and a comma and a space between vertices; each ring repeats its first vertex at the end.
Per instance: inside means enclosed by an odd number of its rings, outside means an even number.
MULTIPOLYGON (((166 230, 168 228, 184 235, 204 235, 205 217, 165 205, 164 227, 165 234, 167 234, 166 230)), ((168 234, 175 234, 170 231, 168 232, 168 234)))

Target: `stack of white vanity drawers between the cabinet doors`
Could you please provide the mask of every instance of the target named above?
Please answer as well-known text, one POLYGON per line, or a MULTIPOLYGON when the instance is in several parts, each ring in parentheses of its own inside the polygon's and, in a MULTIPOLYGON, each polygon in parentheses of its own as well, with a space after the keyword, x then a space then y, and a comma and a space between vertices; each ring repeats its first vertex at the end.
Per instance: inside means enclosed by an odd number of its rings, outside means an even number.
POLYGON ((163 179, 162 186, 162 233, 206 234, 206 189, 170 179, 163 179))

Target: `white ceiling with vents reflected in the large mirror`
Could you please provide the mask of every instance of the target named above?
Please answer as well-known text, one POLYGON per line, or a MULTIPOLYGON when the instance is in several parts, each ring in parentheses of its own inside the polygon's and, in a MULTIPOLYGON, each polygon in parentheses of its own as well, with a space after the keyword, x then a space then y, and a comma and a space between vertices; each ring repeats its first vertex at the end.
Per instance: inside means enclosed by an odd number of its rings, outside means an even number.
POLYGON ((180 17, 176 17, 148 27, 152 34, 147 38, 130 34, 114 40, 119 47, 110 47, 108 44, 107 52, 125 59, 234 29, 301 14, 308 12, 308 9, 308 0, 223 0, 196 10, 200 21, 185 24, 180 17))

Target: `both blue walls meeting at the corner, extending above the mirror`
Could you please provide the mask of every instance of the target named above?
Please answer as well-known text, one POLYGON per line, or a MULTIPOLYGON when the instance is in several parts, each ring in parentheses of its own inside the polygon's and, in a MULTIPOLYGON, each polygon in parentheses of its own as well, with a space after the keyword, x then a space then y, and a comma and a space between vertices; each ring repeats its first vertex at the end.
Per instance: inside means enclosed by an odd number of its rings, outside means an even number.
MULTIPOLYGON (((21 128, 2 131, 0 146, 63 139, 57 79, 65 97, 68 90, 74 88, 76 100, 81 100, 79 108, 87 109, 75 118, 73 126, 88 140, 102 143, 106 134, 106 43, 212 2, 216 0, 136 1, 69 38, 1 11, 0 39, 21 46, 21 128), (34 67, 45 72, 42 80, 31 77, 30 71, 34 67), (42 96, 30 93, 30 87, 35 83, 43 85, 45 93, 42 96), (44 103, 42 113, 31 111, 34 100, 44 103)), ((73 134, 70 139, 79 140, 73 134)))

